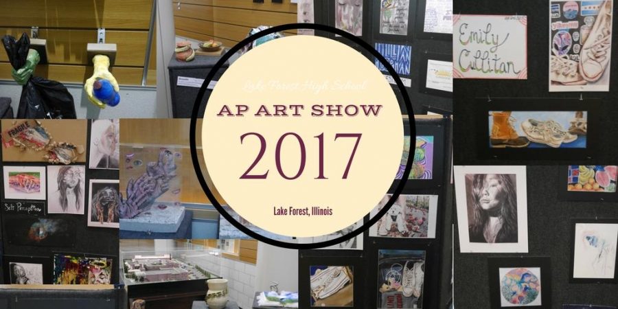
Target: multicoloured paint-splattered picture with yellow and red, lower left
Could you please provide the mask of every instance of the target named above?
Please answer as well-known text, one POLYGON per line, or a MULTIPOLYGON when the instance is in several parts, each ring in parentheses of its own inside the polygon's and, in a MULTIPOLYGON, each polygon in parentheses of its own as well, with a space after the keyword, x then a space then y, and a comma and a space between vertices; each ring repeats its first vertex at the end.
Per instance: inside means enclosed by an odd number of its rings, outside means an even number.
POLYGON ((110 284, 112 259, 54 254, 54 284, 110 284))

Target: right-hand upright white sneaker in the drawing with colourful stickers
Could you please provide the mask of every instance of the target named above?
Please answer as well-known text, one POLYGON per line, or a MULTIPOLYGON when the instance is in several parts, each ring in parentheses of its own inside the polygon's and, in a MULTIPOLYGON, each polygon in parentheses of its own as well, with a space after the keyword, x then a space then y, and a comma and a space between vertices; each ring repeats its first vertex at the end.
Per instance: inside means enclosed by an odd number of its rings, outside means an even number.
POLYGON ((604 1, 597 21, 580 52, 580 73, 584 80, 596 82, 610 61, 612 39, 612 1, 604 1))

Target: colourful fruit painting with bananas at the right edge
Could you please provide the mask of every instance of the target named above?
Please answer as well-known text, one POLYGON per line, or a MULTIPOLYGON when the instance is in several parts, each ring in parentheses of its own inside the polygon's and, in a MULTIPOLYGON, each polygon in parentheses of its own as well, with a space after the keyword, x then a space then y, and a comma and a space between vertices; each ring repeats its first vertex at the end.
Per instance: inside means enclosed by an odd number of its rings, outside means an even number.
POLYGON ((569 165, 567 190, 577 192, 616 192, 616 165, 569 165))

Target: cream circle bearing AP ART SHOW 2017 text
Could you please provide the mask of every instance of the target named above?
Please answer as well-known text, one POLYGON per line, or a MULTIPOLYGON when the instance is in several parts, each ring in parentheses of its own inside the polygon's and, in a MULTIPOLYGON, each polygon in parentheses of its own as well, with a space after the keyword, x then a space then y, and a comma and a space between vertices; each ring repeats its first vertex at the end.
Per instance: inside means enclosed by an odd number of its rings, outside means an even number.
POLYGON ((209 177, 234 211, 284 236, 323 236, 376 207, 399 170, 398 100, 371 60, 287 36, 225 71, 202 124, 209 177))

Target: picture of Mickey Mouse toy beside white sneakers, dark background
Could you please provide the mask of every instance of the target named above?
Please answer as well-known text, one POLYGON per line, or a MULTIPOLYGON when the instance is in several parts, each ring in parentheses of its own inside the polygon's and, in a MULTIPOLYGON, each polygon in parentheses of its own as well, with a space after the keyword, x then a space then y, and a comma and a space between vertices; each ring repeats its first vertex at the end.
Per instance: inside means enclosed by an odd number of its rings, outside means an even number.
POLYGON ((423 308, 425 251, 378 250, 378 308, 423 308))

